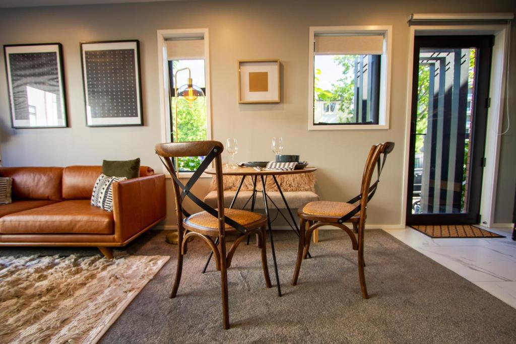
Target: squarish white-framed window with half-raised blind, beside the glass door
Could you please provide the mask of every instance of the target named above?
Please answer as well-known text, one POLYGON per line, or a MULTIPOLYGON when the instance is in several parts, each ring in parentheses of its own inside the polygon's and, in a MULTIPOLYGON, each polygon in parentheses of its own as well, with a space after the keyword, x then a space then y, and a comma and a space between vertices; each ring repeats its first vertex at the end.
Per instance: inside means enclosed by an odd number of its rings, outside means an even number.
POLYGON ((391 27, 311 27, 309 129, 388 128, 391 27))

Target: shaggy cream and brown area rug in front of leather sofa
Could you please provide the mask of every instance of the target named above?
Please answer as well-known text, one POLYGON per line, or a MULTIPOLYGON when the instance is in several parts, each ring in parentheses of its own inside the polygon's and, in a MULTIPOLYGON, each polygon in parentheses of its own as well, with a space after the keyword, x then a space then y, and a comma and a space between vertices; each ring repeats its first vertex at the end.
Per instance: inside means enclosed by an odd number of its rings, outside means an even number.
POLYGON ((0 343, 95 343, 168 256, 0 257, 0 343))

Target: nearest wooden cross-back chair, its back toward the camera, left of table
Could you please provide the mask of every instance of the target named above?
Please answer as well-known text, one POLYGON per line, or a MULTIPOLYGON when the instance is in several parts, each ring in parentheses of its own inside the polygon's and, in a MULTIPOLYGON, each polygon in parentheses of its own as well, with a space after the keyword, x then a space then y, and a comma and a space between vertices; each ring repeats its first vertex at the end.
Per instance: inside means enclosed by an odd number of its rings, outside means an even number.
POLYGON ((175 280, 172 286, 170 298, 175 298, 181 281, 183 270, 183 255, 187 252, 187 240, 190 237, 201 238, 212 250, 215 255, 216 268, 220 271, 222 287, 222 324, 224 329, 229 329, 229 309, 228 309, 228 274, 227 268, 231 266, 231 260, 238 244, 248 237, 255 234, 257 246, 262 253, 262 268, 265 276, 267 288, 271 287, 269 271, 267 267, 267 253, 265 240, 265 226, 267 218, 261 214, 247 210, 237 210, 224 208, 224 195, 222 186, 222 163, 220 154, 224 150, 222 143, 218 141, 197 141, 197 142, 178 142, 157 144, 156 153, 169 171, 173 180, 174 197, 176 204, 176 214, 178 217, 178 266, 176 268, 175 280), (188 183, 184 185, 178 176, 172 163, 176 157, 204 156, 201 166, 193 173, 188 183), (217 184, 217 209, 208 206, 190 192, 193 184, 201 174, 215 162, 216 184, 217 184), (204 211, 196 214, 189 214, 183 207, 183 200, 188 196, 193 203, 197 204, 204 211), (237 234, 230 250, 226 253, 226 234, 237 234), (219 244, 213 241, 212 237, 217 237, 219 244))

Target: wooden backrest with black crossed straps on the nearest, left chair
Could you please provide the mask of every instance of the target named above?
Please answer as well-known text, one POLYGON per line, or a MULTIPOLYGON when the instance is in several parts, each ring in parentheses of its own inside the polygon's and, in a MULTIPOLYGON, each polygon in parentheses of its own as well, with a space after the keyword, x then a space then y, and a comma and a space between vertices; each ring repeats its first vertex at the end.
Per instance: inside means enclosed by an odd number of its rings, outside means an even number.
POLYGON ((163 164, 169 171, 173 180, 174 198, 176 204, 176 214, 178 216, 178 225, 182 226, 183 215, 190 216, 184 209, 183 201, 186 196, 193 203, 197 204, 204 211, 219 219, 219 231, 221 234, 225 231, 224 222, 236 228, 241 233, 245 233, 245 227, 238 224, 234 220, 224 215, 224 187, 222 182, 222 160, 221 153, 224 145, 218 141, 195 141, 195 142, 177 142, 177 143, 161 143, 155 146, 156 154, 162 159, 163 164), (172 159, 190 156, 204 156, 199 168, 193 172, 189 181, 184 185, 174 169, 172 159), (190 190, 197 182, 202 173, 208 168, 212 161, 215 162, 215 180, 217 185, 217 209, 214 209, 200 200, 190 190))

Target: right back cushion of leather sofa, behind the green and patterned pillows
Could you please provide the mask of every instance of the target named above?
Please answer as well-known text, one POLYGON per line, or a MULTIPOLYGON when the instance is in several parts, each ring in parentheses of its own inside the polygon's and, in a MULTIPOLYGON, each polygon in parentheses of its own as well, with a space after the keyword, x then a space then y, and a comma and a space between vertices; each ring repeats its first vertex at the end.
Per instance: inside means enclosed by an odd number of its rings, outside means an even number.
MULTIPOLYGON (((68 166, 63 169, 63 198, 67 200, 89 200, 96 179, 102 173, 102 166, 68 166)), ((140 177, 153 175, 154 170, 140 166, 140 177)))

